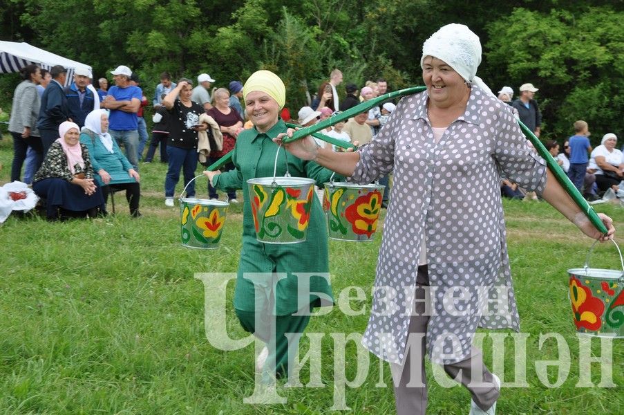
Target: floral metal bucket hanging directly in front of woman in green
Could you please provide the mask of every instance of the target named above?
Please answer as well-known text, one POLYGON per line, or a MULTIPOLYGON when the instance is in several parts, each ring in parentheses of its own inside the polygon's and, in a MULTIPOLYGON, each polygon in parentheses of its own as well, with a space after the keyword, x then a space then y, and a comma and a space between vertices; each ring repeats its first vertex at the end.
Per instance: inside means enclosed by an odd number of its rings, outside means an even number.
POLYGON ((256 239, 299 243, 308 237, 316 181, 303 177, 262 177, 247 181, 256 239))

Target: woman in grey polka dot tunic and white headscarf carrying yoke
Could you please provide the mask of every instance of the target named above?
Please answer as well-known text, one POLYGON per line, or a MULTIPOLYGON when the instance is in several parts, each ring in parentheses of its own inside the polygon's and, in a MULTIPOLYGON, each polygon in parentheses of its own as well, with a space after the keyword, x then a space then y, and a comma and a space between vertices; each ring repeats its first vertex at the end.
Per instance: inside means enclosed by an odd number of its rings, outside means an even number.
POLYGON ((363 344, 391 363, 397 412, 425 412, 427 346, 471 392, 470 414, 494 414, 500 382, 472 340, 478 327, 519 329, 502 174, 536 190, 589 237, 604 241, 614 228, 605 215, 607 236, 591 225, 527 145, 506 104, 476 76, 481 45, 469 28, 438 30, 420 62, 426 91, 403 98, 368 145, 337 153, 306 137, 286 148, 357 183, 394 172, 363 344))

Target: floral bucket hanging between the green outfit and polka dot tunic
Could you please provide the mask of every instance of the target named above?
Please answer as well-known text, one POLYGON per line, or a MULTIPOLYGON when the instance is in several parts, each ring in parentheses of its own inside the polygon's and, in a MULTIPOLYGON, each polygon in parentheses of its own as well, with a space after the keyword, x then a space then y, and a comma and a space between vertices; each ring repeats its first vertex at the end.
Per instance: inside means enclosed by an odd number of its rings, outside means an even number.
POLYGON ((323 208, 327 213, 330 238, 359 242, 375 239, 384 187, 325 183, 323 208))

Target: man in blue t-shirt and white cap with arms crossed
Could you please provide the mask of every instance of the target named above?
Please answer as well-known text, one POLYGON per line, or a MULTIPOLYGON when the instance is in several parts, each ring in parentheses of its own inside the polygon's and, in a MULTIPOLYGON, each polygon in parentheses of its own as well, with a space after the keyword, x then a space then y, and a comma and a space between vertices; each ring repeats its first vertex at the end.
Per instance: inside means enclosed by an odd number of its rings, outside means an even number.
POLYGON ((135 170, 138 170, 137 157, 139 145, 137 112, 141 107, 143 92, 138 86, 130 84, 132 71, 128 66, 117 66, 111 72, 115 86, 108 89, 108 95, 102 101, 101 107, 111 110, 108 116, 108 133, 117 140, 118 145, 124 145, 126 157, 135 170))

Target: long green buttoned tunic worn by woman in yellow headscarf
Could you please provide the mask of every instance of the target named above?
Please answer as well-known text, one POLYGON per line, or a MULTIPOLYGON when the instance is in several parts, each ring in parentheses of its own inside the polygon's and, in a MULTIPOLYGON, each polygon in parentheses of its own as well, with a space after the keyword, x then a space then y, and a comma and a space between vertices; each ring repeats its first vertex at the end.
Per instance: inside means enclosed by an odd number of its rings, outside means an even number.
MULTIPOLYGON (((325 226, 325 215, 321 203, 314 196, 308 226, 308 239, 305 242, 293 244, 262 243, 256 240, 256 230, 249 203, 249 188, 247 180, 258 177, 273 177, 275 154, 278 146, 272 141, 278 133, 286 132, 286 125, 282 120, 267 133, 259 133, 255 128, 242 131, 236 139, 236 146, 232 154, 234 169, 215 176, 214 187, 219 190, 243 190, 243 249, 240 252, 238 263, 238 278, 234 292, 234 308, 242 311, 260 311, 266 304, 266 299, 274 295, 275 315, 288 315, 302 308, 303 298, 312 306, 333 304, 332 288, 329 282, 328 236, 325 226), (259 278, 256 281, 263 286, 254 293, 254 283, 243 276, 246 273, 285 273, 285 278, 276 283, 272 290, 270 277, 259 278), (310 282, 308 289, 299 286, 297 277, 293 273, 319 273, 307 279, 310 282), (321 295, 314 295, 321 293, 321 295), (302 299, 298 302, 298 297, 302 299), (303 297, 305 296, 305 297, 303 297), (254 299, 257 298, 258 300, 254 299), (325 300, 325 301, 323 301, 325 300), (255 304, 255 306, 254 306, 255 304)), ((308 177, 316 181, 316 185, 323 185, 329 181, 332 171, 320 165, 296 158, 292 154, 285 155, 285 150, 279 150, 277 159, 277 176, 284 176, 288 170, 293 177, 308 177)), ((247 274, 249 276, 249 274, 247 274)))

